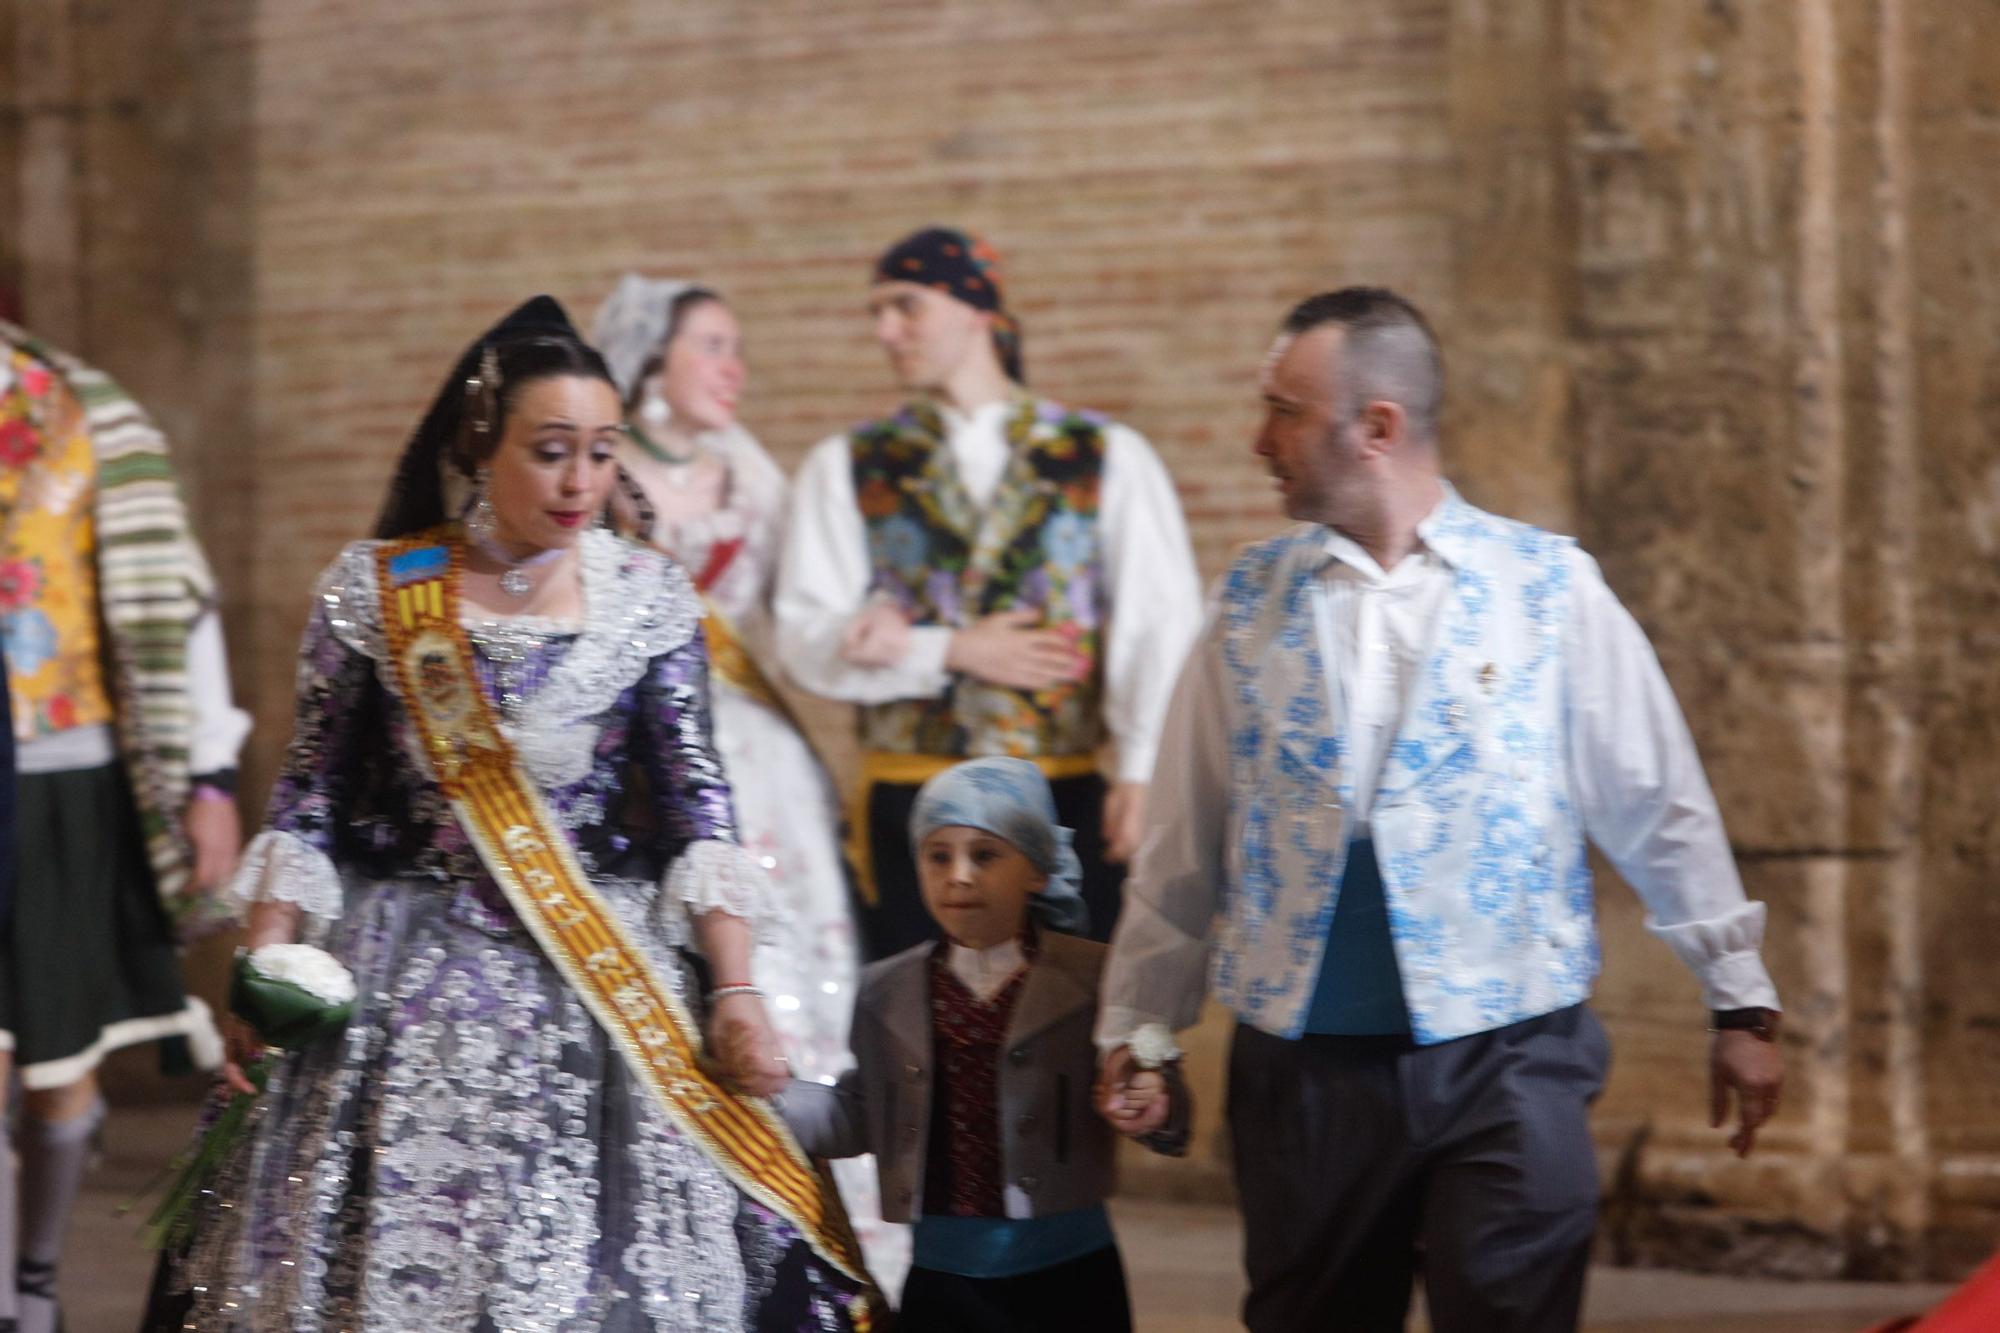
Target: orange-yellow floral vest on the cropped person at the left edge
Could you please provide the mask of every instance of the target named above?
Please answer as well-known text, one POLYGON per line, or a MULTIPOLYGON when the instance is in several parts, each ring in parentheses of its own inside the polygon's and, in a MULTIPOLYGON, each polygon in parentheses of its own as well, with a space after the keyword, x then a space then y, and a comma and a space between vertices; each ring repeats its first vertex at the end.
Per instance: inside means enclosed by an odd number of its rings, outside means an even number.
POLYGON ((16 741, 112 721, 94 480, 82 406, 36 358, 14 352, 0 368, 0 638, 16 741))

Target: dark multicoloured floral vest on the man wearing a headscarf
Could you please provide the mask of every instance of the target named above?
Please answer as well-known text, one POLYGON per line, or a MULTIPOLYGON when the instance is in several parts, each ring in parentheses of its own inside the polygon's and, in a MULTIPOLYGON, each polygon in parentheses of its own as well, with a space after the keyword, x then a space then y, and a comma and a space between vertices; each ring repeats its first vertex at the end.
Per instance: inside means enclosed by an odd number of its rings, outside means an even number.
POLYGON ((1090 669, 1050 691, 954 677, 934 699, 862 709, 862 745, 902 755, 1088 755, 1102 739, 1104 548, 1098 488, 1104 422, 1018 394, 1010 458, 982 512, 966 494, 928 402, 848 436, 868 530, 870 592, 912 624, 972 624, 1032 608, 1090 669))

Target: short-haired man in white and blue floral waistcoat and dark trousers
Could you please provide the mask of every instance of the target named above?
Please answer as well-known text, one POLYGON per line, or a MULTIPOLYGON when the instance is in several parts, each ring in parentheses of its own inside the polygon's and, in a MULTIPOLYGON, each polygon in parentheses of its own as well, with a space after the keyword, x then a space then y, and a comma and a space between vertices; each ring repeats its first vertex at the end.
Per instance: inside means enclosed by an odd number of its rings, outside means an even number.
POLYGON ((1224 580, 1162 733, 1104 979, 1104 1109, 1204 993, 1254 1333, 1574 1329, 1608 1047, 1586 841, 1714 1013, 1710 1119, 1778 1103, 1778 995, 1646 636, 1568 538, 1466 504, 1442 360, 1380 288, 1300 304, 1256 454, 1302 526, 1224 580))

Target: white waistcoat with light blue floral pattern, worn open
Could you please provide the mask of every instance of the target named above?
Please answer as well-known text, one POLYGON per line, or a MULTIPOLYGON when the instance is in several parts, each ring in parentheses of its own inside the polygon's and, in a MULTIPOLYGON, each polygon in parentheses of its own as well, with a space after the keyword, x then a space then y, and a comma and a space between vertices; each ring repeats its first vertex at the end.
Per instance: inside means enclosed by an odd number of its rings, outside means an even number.
MULTIPOLYGON (((1324 542, 1250 546, 1220 596, 1232 797, 1210 985, 1280 1037, 1304 1029, 1354 809, 1312 612, 1324 542)), ((1454 586, 1370 811, 1424 1045, 1580 1003, 1598 971, 1564 717, 1570 540, 1452 496, 1430 546, 1454 586)))

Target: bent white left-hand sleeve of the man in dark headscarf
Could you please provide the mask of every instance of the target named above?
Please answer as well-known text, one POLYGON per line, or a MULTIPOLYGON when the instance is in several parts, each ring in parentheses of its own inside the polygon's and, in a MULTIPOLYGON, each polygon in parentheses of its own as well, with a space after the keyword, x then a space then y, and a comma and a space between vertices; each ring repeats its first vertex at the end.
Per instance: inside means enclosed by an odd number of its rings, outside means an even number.
POLYGON ((848 438, 836 434, 806 454, 792 480, 778 580, 772 590, 778 660, 800 687, 826 699, 872 705, 942 695, 952 630, 916 626, 894 666, 856 666, 840 636, 868 604, 868 532, 854 502, 848 438))

